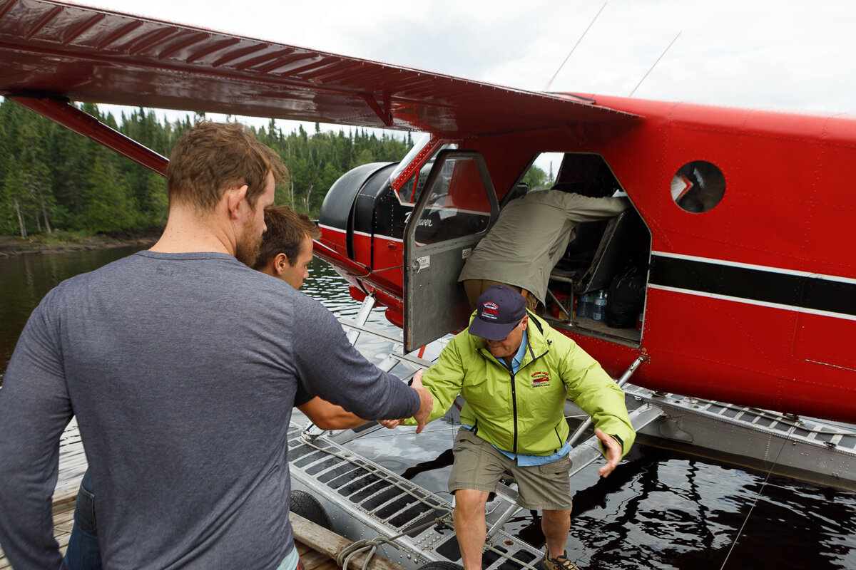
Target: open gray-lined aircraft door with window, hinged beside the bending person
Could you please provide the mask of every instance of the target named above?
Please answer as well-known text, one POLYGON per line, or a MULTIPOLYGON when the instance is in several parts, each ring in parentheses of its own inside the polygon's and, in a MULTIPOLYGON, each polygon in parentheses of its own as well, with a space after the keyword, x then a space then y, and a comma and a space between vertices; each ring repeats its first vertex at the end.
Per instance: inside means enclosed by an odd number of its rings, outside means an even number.
POLYGON ((467 326, 464 261, 499 214, 484 158, 443 150, 404 229, 404 350, 467 326))

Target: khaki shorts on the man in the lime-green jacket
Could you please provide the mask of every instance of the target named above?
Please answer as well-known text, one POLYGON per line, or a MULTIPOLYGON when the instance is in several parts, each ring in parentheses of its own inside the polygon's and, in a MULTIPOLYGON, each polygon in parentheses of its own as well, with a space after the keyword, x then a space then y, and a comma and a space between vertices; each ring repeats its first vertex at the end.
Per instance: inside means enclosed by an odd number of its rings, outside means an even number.
POLYGON ((508 474, 517 482, 517 504, 522 508, 564 511, 573 505, 568 455, 552 463, 520 467, 465 427, 458 431, 452 453, 455 463, 449 474, 450 493, 458 489, 492 493, 499 479, 508 474))

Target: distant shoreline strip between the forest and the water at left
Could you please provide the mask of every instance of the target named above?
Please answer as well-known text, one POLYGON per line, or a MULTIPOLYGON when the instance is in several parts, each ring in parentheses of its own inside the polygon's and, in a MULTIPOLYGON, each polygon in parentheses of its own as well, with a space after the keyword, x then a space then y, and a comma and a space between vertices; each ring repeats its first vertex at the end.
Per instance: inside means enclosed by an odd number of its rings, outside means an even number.
POLYGON ((42 241, 44 235, 35 238, 18 238, 15 236, 0 236, 0 258, 54 255, 74 253, 87 250, 108 250, 117 247, 140 245, 151 247, 158 241, 162 230, 147 230, 142 232, 120 232, 112 235, 63 235, 50 236, 50 242, 42 241))

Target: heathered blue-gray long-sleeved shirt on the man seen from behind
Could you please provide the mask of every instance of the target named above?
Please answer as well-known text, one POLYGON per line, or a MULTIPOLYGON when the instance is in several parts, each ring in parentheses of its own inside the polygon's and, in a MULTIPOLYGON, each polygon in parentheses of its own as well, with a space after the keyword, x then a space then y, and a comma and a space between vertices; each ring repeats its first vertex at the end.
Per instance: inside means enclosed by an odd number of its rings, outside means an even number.
POLYGON ((110 568, 275 568, 293 545, 287 435, 318 395, 366 419, 419 396, 324 307, 217 253, 142 251, 58 285, 0 390, 0 544, 57 568, 51 493, 77 415, 110 568))

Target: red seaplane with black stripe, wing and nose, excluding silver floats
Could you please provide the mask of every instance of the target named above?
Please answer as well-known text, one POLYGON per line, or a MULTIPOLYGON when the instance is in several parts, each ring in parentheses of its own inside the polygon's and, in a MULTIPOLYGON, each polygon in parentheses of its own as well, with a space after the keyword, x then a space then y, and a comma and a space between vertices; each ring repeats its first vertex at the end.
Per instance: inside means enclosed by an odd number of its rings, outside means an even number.
POLYGON ((521 91, 49 0, 0 1, 0 94, 159 173, 166 159, 69 101, 428 133, 330 189, 315 253, 385 306, 415 350, 467 324, 458 274, 545 152, 556 183, 627 193, 577 229, 549 314, 618 376, 856 421, 856 120, 521 91), (645 275, 618 328, 574 299, 645 275), (442 308, 442 309, 441 309, 442 308))

